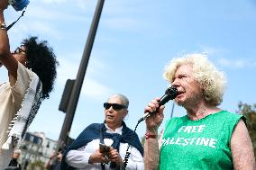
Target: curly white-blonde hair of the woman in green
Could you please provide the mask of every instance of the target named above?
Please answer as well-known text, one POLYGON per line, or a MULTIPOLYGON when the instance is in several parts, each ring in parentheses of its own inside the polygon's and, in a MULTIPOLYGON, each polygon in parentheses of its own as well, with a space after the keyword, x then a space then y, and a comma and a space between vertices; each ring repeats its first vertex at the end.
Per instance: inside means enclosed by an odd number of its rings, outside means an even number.
POLYGON ((193 76, 203 89, 205 100, 215 106, 223 102, 226 78, 224 72, 217 70, 215 65, 211 63, 205 53, 186 54, 181 58, 173 58, 166 65, 163 77, 173 82, 176 70, 181 65, 190 65, 193 70, 193 76))

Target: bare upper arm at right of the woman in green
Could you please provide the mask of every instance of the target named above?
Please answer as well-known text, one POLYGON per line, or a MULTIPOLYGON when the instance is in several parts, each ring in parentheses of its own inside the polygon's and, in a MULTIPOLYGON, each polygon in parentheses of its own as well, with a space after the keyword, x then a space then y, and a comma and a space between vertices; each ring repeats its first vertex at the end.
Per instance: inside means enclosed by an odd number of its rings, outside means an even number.
POLYGON ((251 138, 246 125, 242 120, 237 123, 233 130, 231 152, 234 169, 256 170, 251 138))

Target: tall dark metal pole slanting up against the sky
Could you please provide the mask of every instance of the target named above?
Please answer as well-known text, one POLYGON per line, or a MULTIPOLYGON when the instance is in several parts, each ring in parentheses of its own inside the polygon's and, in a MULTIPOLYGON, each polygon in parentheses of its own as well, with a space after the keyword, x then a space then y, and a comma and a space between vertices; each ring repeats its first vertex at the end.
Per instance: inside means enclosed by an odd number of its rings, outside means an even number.
POLYGON ((94 14, 94 18, 90 27, 90 31, 87 38, 87 44, 83 52, 83 57, 80 62, 80 66, 78 69, 78 76, 75 80, 75 83, 72 87, 72 91, 69 97, 69 103, 67 107, 67 112, 65 116, 65 120, 62 125, 62 129, 59 134, 59 141, 57 145, 58 148, 63 148, 67 144, 67 140, 69 138, 69 132, 71 129, 72 121, 76 112, 79 94, 83 85, 84 77, 87 71, 87 64, 90 58, 91 50, 93 48, 93 43, 96 37, 96 29, 98 26, 98 22, 100 19, 100 15, 103 9, 103 4, 105 0, 98 0, 96 4, 96 12, 94 14))

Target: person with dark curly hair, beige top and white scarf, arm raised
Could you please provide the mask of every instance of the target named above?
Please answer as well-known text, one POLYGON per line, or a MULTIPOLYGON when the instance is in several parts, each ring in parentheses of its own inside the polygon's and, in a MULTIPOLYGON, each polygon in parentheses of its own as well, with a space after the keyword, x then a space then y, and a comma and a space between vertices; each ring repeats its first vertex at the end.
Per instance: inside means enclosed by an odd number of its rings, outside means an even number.
POLYGON ((8 71, 8 81, 0 83, 0 169, 8 166, 41 100, 49 98, 58 62, 47 41, 37 37, 23 40, 10 52, 4 11, 8 0, 0 0, 0 67, 8 71))

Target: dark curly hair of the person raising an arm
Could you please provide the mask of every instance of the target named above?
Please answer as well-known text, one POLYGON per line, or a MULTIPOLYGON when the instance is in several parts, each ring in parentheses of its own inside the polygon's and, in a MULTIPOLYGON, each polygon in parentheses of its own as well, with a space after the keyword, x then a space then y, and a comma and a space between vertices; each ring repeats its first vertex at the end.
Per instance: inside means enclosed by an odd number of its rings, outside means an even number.
POLYGON ((53 49, 48 46, 46 40, 37 41, 38 37, 30 37, 23 40, 26 49, 28 68, 39 76, 42 84, 41 99, 49 98, 53 84, 57 76, 56 67, 59 65, 53 49))

